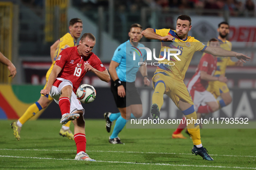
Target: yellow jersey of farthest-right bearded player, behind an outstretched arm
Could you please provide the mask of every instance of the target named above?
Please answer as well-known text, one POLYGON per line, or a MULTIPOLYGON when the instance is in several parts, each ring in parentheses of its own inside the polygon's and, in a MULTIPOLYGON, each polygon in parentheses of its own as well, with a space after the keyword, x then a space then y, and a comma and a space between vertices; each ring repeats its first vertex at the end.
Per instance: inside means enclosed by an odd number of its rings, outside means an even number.
MULTIPOLYGON (((224 50, 231 51, 232 43, 230 41, 222 41, 218 38, 217 40, 220 42, 221 48, 223 48, 224 50)), ((204 56, 204 54, 202 55, 202 57, 204 56)), ((217 69, 214 73, 214 76, 219 77, 222 74, 225 75, 227 66, 235 66, 235 64, 236 62, 232 61, 230 57, 217 57, 217 69)))

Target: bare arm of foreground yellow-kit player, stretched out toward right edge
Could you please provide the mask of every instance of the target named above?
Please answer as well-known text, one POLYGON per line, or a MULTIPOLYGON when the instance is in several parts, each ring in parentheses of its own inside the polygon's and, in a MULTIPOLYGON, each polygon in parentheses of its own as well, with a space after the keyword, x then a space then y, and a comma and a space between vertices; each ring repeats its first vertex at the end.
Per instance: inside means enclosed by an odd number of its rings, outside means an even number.
POLYGON ((234 51, 228 51, 224 50, 223 48, 220 47, 210 47, 208 46, 205 50, 205 53, 212 54, 214 56, 218 57, 236 57, 238 60, 243 61, 243 63, 246 63, 245 61, 249 61, 251 58, 248 57, 245 54, 242 53, 237 53, 234 51))

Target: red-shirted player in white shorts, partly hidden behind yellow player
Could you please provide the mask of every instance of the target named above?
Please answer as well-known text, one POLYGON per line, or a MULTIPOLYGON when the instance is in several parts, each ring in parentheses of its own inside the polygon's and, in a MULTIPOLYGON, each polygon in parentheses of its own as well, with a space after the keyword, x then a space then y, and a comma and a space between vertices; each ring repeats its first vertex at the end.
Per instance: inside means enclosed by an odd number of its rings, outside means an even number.
MULTIPOLYGON (((210 47, 220 47, 216 38, 209 41, 210 47)), ((206 90, 209 81, 227 82, 227 77, 221 75, 214 76, 217 68, 217 57, 211 54, 205 54, 196 69, 194 76, 188 82, 187 88, 194 102, 194 110, 197 112, 197 119, 200 119, 201 113, 213 113, 219 109, 219 104, 214 98, 214 95, 206 90)), ((187 126, 185 116, 182 118, 181 123, 175 132, 172 133, 172 138, 186 139, 181 134, 181 131, 187 126)))

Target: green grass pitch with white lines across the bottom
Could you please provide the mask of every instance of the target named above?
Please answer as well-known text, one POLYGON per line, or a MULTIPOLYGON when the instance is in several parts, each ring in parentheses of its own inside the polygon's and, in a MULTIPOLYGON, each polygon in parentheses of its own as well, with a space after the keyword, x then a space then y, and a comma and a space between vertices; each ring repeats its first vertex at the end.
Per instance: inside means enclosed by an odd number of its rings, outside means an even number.
POLYGON ((125 145, 113 145, 108 142, 110 133, 104 127, 104 120, 86 120, 86 152, 97 161, 89 162, 74 160, 75 142, 58 135, 59 120, 28 121, 22 127, 20 141, 14 138, 10 123, 10 120, 0 120, 0 168, 4 169, 215 170, 256 167, 256 129, 201 129, 203 146, 214 158, 214 161, 205 161, 199 155, 191 154, 192 139, 172 139, 174 129, 124 128, 119 137, 125 145))

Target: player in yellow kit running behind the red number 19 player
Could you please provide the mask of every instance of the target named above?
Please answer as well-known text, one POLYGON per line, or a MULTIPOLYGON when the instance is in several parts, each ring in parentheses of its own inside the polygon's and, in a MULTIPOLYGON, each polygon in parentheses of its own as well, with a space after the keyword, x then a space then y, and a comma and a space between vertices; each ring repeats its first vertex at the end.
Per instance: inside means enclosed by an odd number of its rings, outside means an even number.
MULTIPOLYGON (((76 42, 78 38, 80 37, 81 33, 83 31, 83 23, 81 19, 74 18, 71 19, 69 22, 69 32, 65 34, 62 38, 57 40, 52 46, 51 46, 51 59, 52 59, 52 66, 46 73, 46 84, 47 85, 49 75, 52 72, 52 68, 55 64, 55 60, 58 57, 58 55, 62 52, 63 49, 68 48, 68 47, 74 47, 76 46, 76 42)), ((44 89, 45 89, 44 87, 44 89)), ((11 124, 13 128, 13 135, 17 140, 20 139, 20 130, 21 127, 23 126, 26 121, 28 121, 32 116, 34 116, 39 110, 44 109, 47 107, 47 105, 53 100, 53 98, 50 95, 42 95, 39 98, 39 100, 29 106, 29 108, 26 110, 26 112, 19 118, 18 121, 13 122, 11 124)), ((62 126, 62 129, 60 130, 59 134, 62 136, 68 137, 68 139, 74 140, 74 135, 73 133, 69 130, 70 126, 70 121, 65 125, 62 126)))

